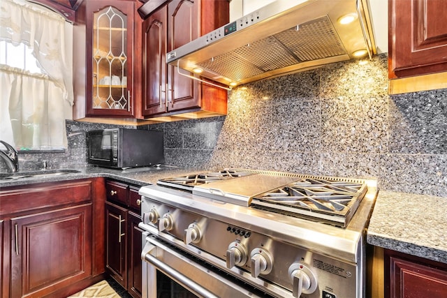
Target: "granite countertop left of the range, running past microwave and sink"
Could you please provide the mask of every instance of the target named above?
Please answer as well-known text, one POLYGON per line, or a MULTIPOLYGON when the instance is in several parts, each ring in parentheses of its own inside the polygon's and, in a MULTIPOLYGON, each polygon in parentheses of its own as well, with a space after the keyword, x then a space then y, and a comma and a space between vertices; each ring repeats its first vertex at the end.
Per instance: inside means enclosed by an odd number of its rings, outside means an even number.
MULTIPOLYGON (((160 167, 140 167, 128 170, 115 170, 105 167, 65 167, 68 170, 78 170, 79 172, 73 172, 69 174, 61 174, 57 176, 49 177, 28 177, 21 179, 3 179, 0 180, 0 188, 8 186, 24 186, 28 184, 36 184, 43 182, 56 182, 56 181, 67 181, 73 179, 88 179, 94 177, 105 177, 110 179, 118 179, 129 184, 134 184, 138 186, 145 186, 148 184, 156 184, 161 178, 173 177, 191 174, 192 172, 201 172, 197 168, 183 168, 183 167, 170 167, 166 165, 161 165, 160 167)), ((62 169, 57 169, 62 170, 62 169)), ((52 172, 48 169, 47 172, 52 172)), ((26 172, 24 172, 26 173, 26 172)), ((44 173, 40 171, 39 174, 44 173)), ((9 173, 8 173, 9 174, 9 173)), ((17 173, 17 174, 20 174, 17 173)))

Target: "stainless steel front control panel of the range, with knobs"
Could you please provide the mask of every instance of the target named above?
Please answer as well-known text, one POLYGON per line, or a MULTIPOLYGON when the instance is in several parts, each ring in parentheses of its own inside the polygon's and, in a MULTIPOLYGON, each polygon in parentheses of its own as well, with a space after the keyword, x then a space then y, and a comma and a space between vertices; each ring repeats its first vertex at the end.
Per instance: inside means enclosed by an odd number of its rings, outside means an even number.
POLYGON ((147 198, 142 219, 152 227, 145 230, 244 281, 269 281, 305 298, 358 297, 356 265, 273 239, 251 225, 223 223, 147 198))

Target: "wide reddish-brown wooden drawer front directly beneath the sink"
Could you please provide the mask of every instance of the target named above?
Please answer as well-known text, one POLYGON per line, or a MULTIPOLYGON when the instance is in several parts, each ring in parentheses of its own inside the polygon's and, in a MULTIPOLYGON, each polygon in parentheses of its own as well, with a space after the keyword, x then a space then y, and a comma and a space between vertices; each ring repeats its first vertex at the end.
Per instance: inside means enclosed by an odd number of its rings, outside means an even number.
POLYGON ((64 204, 90 202, 91 189, 91 180, 3 188, 0 191, 0 216, 64 204))

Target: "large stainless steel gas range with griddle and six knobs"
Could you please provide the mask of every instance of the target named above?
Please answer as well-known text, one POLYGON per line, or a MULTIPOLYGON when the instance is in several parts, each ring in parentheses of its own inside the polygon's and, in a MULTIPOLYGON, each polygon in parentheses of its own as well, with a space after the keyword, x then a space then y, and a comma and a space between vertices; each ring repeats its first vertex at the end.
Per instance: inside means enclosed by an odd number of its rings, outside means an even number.
POLYGON ((144 186, 143 297, 163 297, 162 276, 182 297, 364 297, 376 193, 374 179, 233 168, 144 186))

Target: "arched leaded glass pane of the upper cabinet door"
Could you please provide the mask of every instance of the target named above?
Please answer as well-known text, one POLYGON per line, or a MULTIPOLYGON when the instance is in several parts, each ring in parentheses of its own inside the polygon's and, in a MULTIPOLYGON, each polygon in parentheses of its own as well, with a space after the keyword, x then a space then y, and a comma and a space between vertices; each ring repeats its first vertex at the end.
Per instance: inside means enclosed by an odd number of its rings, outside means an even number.
POLYGON ((126 24, 126 15, 112 6, 94 13, 94 109, 129 109, 126 24))

